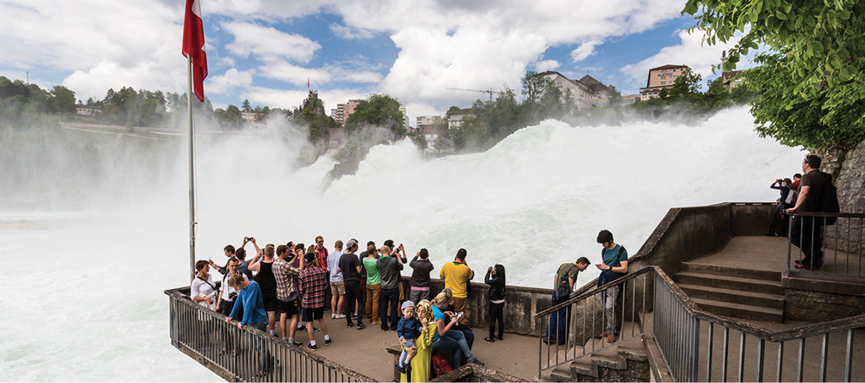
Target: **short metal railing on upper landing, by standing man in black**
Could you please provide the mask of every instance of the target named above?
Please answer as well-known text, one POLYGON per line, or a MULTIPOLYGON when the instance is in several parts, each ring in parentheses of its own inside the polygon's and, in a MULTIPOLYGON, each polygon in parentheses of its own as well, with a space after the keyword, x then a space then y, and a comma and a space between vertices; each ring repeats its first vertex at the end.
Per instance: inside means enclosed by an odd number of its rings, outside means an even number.
POLYGON ((787 230, 787 271, 865 278, 862 271, 865 214, 801 211, 791 216, 787 230))

